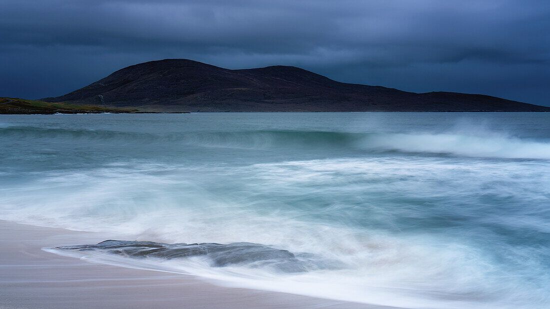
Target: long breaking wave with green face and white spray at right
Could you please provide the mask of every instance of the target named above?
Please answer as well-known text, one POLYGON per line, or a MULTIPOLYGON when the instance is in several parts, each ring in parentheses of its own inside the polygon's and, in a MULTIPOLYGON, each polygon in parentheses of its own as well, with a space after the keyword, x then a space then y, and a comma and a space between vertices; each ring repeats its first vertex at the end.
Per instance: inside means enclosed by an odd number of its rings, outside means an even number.
POLYGON ((510 137, 502 133, 387 133, 328 131, 195 131, 140 133, 73 130, 32 126, 0 127, 0 135, 12 138, 70 138, 111 140, 140 144, 175 143, 195 147, 240 149, 351 149, 363 153, 397 152, 444 154, 507 159, 550 159, 550 141, 510 137))

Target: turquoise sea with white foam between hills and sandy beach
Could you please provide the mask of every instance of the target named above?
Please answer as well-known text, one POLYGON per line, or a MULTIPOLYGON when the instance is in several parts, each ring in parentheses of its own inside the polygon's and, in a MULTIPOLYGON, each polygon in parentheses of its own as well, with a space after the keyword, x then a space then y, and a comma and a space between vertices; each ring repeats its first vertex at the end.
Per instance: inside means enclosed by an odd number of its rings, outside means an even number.
POLYGON ((301 268, 88 259, 384 305, 550 306, 549 113, 3 115, 0 146, 2 220, 262 244, 301 268))

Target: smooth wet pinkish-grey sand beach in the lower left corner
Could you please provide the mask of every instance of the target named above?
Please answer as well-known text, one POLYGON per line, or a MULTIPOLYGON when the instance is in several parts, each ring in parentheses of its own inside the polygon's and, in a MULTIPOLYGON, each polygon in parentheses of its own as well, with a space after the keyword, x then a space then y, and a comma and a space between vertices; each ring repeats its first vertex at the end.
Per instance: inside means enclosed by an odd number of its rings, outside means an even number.
POLYGON ((227 288, 195 276, 90 263, 41 250, 102 240, 95 233, 0 221, 0 307, 382 308, 227 288))

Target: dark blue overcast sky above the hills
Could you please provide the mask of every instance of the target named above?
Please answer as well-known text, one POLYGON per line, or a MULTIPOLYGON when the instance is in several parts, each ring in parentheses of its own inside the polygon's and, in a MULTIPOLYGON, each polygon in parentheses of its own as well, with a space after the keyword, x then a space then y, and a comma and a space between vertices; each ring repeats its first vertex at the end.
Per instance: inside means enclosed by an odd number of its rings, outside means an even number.
POLYGON ((2 0, 0 43, 8 97, 188 58, 550 105, 549 0, 2 0))

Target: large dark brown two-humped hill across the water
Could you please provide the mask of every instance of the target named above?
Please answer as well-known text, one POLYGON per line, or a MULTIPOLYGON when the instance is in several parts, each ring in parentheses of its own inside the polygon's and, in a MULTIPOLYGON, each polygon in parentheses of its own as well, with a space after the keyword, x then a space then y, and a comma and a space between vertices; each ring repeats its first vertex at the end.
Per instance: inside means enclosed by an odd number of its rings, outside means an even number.
POLYGON ((128 66, 42 100, 151 111, 550 111, 488 95, 342 83, 294 66, 229 70, 188 59, 128 66))

